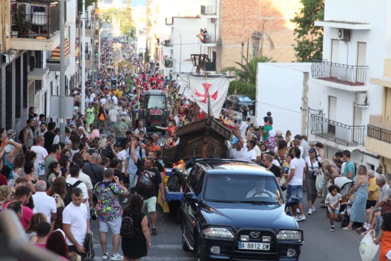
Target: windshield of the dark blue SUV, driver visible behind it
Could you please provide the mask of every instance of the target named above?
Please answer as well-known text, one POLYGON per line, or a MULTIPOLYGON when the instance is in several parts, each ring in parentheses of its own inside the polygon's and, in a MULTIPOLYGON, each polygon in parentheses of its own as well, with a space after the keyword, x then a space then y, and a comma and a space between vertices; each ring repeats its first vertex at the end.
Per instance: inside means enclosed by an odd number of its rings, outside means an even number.
POLYGON ((282 204, 280 189, 273 177, 210 175, 204 195, 206 201, 282 204))

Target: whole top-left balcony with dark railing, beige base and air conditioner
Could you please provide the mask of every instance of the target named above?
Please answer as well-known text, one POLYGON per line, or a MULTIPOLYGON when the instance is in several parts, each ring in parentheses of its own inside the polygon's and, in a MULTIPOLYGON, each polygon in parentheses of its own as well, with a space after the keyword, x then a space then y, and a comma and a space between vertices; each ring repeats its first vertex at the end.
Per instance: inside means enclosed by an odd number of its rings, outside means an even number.
POLYGON ((56 1, 11 1, 11 48, 54 50, 60 44, 59 8, 56 1))

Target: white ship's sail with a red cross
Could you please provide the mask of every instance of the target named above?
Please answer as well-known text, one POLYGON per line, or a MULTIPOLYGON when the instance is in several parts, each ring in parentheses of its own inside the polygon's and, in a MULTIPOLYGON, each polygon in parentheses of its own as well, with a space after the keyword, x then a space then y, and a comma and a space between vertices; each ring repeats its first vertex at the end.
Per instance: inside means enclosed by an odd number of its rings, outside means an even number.
POLYGON ((230 80, 224 77, 194 76, 188 76, 188 79, 191 96, 198 106, 205 112, 210 111, 211 115, 218 118, 227 97, 230 80))

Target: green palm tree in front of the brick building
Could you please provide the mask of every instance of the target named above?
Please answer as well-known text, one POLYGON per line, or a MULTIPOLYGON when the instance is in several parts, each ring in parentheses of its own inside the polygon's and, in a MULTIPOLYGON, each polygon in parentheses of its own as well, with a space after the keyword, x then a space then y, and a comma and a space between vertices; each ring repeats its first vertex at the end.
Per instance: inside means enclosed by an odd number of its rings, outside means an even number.
POLYGON ((257 64, 259 62, 276 62, 273 60, 273 58, 267 57, 267 56, 260 56, 260 57, 251 57, 247 59, 245 56, 243 56, 243 60, 245 60, 244 64, 240 64, 239 62, 235 62, 237 65, 239 65, 239 68, 236 68, 235 66, 227 67, 223 69, 223 72, 234 72, 237 77, 239 77, 241 80, 244 80, 246 83, 255 84, 255 81, 257 79, 257 64))

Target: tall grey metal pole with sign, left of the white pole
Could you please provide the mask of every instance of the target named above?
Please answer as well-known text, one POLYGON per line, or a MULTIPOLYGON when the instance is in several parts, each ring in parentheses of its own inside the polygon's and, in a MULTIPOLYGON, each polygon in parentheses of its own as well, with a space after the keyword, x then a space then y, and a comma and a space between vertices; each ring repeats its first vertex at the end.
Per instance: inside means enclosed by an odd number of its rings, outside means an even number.
POLYGON ((60 0, 60 141, 65 141, 65 0, 60 0))

